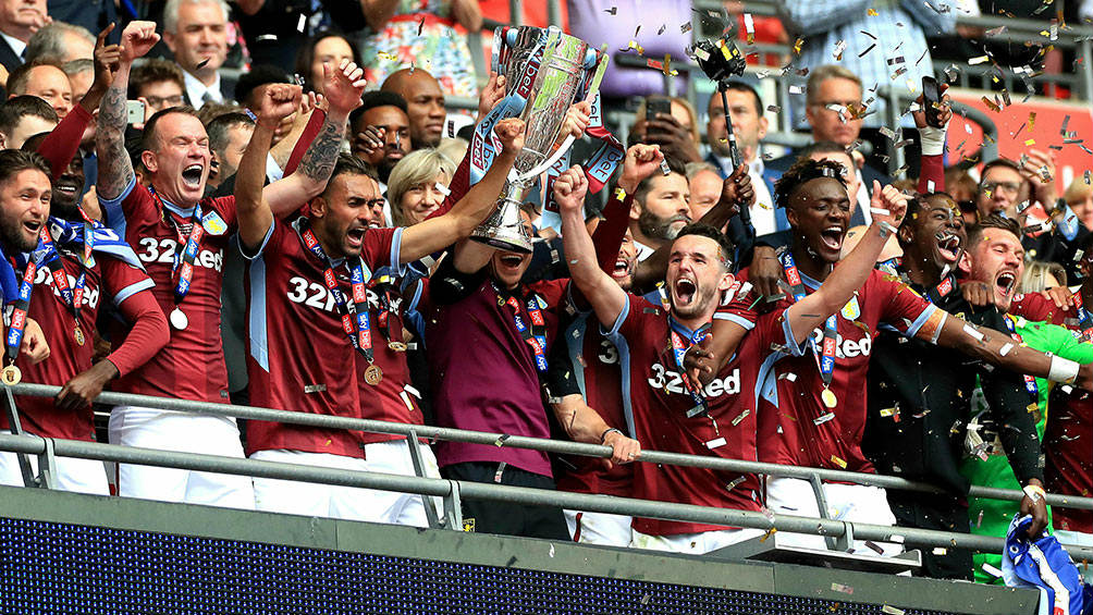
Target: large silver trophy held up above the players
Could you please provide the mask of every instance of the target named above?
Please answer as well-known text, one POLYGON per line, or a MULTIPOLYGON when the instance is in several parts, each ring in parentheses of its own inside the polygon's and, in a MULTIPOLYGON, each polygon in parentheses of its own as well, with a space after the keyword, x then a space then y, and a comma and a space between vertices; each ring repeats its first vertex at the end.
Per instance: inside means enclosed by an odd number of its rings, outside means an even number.
MULTIPOLYGON (((529 64, 534 60, 539 60, 539 73, 531 84, 524 111, 517 116, 527 122, 524 150, 509 172, 497 209, 471 233, 471 239, 502 250, 530 252, 531 237, 520 221, 524 193, 572 146, 572 135, 557 147, 555 143, 566 111, 584 94, 579 92, 581 80, 596 69, 596 50, 557 28, 543 32, 532 26, 507 28, 503 35, 495 36, 494 47, 495 62, 498 54, 506 57, 502 67, 506 95, 521 84, 527 86, 529 64)), ((588 94, 591 93, 595 87, 589 90, 588 94)))

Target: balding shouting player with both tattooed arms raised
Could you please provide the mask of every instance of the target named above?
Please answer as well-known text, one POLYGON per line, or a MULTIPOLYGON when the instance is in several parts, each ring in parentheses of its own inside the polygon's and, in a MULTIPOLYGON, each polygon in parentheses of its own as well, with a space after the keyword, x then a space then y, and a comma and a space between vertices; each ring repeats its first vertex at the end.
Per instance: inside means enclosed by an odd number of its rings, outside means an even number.
MULTIPOLYGON (((131 22, 121 34, 114 82, 103 97, 96 130, 98 198, 108 226, 134 247, 155 282, 172 326, 167 346, 119 379, 128 393, 203 402, 227 400, 220 336, 224 249, 237 228, 235 198, 205 199, 209 137, 192 108, 173 107, 144 125, 141 161, 151 186, 136 181, 125 149, 126 90, 134 59, 160 40, 152 22, 131 22)), ((286 213, 322 191, 333 169, 349 113, 361 103, 360 69, 325 67, 326 120, 299 168, 263 190, 286 213)), ((121 406, 110 413, 110 442, 160 450, 243 457, 234 419, 121 406)), ((118 493, 168 501, 254 508, 250 478, 121 464, 118 493)))

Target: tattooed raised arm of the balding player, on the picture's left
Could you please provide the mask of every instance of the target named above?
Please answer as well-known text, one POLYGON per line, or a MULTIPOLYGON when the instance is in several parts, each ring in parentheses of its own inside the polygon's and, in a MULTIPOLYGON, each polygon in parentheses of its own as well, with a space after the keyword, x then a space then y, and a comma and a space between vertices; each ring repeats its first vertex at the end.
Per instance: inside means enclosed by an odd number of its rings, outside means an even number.
POLYGON ((155 22, 130 22, 121 32, 121 47, 114 81, 106 88, 95 123, 95 151, 98 159, 98 198, 110 201, 133 180, 133 167, 126 151, 126 97, 129 92, 129 70, 133 60, 148 54, 160 42, 155 22))

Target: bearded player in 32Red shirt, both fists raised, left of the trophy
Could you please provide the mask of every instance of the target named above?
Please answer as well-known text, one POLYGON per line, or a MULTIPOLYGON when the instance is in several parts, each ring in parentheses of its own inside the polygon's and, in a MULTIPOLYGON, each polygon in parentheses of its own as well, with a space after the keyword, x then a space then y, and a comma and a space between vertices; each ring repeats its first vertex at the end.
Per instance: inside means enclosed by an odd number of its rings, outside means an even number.
MULTIPOLYGON (((262 190, 273 129, 299 106, 301 90, 274 84, 263 95, 236 180, 239 244, 248 268, 251 400, 257 405, 422 424, 410 406, 406 354, 385 334, 398 310, 381 296, 384 276, 470 235, 493 210, 524 146, 524 122, 501 121, 504 150, 481 181, 444 214, 409 227, 369 228, 381 200, 376 172, 343 155, 309 214, 275 220, 262 190), (386 270, 386 271, 385 271, 386 270), (317 293, 317 294, 316 294, 317 293), (355 367, 354 367, 355 366, 355 367)), ((303 203, 299 203, 303 204, 303 203)), ((412 388, 411 388, 412 389, 412 388)), ((402 436, 250 422, 254 459, 413 475, 402 436)), ((426 472, 439 477, 428 447, 426 472)), ((424 498, 331 485, 255 478, 259 509, 362 521, 427 525, 424 498)))

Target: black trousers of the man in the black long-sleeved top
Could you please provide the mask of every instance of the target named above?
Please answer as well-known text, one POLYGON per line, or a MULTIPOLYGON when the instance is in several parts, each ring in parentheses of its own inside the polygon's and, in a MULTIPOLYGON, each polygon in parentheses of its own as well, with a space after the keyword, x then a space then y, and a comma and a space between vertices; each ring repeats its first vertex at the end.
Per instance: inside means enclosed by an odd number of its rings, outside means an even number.
MULTIPOLYGON (((967 501, 952 496, 937 496, 912 492, 888 490, 889 506, 896 524, 905 528, 969 533, 967 501)), ((975 580, 972 552, 966 548, 945 547, 944 554, 932 548, 922 552, 922 576, 935 579, 975 580)))

